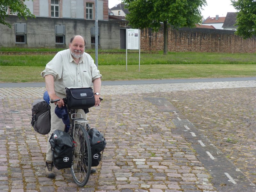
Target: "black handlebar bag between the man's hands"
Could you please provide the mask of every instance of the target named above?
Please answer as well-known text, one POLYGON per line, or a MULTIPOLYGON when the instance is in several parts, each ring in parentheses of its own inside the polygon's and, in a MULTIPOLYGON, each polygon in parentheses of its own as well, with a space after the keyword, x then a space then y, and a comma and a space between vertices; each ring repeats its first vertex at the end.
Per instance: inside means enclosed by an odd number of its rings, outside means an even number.
POLYGON ((87 109, 95 104, 94 93, 91 87, 66 87, 66 94, 66 104, 69 109, 87 109))

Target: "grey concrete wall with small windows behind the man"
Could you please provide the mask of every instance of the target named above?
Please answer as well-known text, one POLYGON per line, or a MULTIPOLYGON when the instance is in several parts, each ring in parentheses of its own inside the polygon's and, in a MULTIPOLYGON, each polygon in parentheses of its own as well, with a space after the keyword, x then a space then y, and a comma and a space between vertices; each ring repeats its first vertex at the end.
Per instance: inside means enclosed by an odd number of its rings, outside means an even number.
MULTIPOLYGON (((94 47, 91 44, 91 27, 94 20, 60 19, 60 18, 28 18, 18 19, 17 16, 8 16, 6 21, 12 28, 0 24, 0 46, 3 47, 62 47, 67 48, 70 38, 74 35, 84 36, 86 48, 94 47), (24 22, 27 25, 26 44, 15 43, 15 22, 24 22), (55 43, 55 25, 65 25, 65 43, 55 43)), ((99 49, 120 49, 120 28, 117 22, 98 21, 100 28, 99 49)))

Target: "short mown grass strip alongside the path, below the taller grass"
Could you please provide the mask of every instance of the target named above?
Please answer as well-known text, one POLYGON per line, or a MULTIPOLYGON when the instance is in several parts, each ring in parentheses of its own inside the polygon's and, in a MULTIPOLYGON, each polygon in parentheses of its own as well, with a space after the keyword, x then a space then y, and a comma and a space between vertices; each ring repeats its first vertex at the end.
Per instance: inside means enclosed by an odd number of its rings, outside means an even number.
MULTIPOLYGON (((44 67, 1 66, 0 82, 44 82, 44 67)), ((180 79, 256 76, 252 64, 190 64, 190 65, 107 65, 99 66, 102 81, 134 79, 180 79)))

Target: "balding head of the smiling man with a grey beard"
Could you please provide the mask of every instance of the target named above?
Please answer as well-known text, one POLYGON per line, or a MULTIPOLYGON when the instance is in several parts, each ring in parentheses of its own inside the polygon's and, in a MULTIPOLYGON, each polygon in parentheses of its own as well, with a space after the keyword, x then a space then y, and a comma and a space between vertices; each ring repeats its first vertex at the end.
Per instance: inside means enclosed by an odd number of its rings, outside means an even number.
POLYGON ((81 36, 76 36, 72 43, 69 44, 69 49, 74 58, 78 59, 84 54, 84 39, 81 36))

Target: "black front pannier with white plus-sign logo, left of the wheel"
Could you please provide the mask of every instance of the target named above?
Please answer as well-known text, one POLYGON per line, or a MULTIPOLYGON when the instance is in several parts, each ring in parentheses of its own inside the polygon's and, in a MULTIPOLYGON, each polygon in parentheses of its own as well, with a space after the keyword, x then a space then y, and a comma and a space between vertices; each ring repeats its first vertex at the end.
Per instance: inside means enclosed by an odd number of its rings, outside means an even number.
POLYGON ((70 168, 72 165, 73 141, 64 131, 55 130, 49 140, 52 147, 52 161, 57 169, 70 168))

